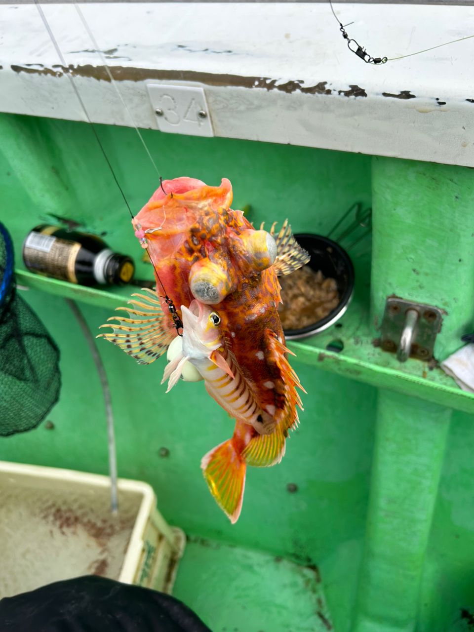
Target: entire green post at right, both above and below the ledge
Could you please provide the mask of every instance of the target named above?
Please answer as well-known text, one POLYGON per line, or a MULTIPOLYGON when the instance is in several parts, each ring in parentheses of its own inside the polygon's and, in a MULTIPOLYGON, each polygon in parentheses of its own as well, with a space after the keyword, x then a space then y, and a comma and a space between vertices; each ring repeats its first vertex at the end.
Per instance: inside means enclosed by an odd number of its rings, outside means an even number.
MULTIPOLYGON (((446 310, 435 357, 461 346, 474 315, 474 183, 468 169, 375 157, 372 317, 388 296, 446 310)), ((382 351, 380 351, 382 353, 382 351)), ((408 360, 408 362, 418 362, 408 360)), ((420 373, 423 363, 420 365, 420 373)), ((411 632, 451 409, 380 389, 355 632, 411 632)))

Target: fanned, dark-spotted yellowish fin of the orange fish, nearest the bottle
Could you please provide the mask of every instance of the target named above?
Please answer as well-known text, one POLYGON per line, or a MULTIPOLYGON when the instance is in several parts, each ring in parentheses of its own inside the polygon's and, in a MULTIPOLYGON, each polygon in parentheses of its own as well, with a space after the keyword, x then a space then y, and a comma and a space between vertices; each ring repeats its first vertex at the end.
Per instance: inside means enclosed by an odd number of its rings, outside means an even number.
POLYGON ((111 343, 116 344, 125 353, 137 360, 138 364, 150 364, 159 358, 176 335, 174 328, 165 318, 160 301, 152 290, 143 288, 147 295, 133 294, 140 301, 130 300, 133 307, 118 307, 117 310, 128 312, 129 317, 113 316, 102 327, 110 327, 111 332, 99 334, 111 343), (143 308, 135 309, 135 306, 143 308))

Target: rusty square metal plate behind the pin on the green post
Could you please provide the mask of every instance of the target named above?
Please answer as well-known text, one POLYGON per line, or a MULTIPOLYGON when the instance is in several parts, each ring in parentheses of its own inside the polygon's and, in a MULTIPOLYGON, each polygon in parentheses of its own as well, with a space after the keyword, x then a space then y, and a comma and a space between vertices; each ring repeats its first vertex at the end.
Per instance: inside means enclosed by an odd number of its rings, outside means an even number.
POLYGON ((410 358, 431 360, 436 336, 441 330, 443 314, 439 307, 433 305, 413 303, 395 296, 387 298, 380 346, 384 351, 399 352, 400 339, 406 324, 406 312, 409 310, 415 310, 418 313, 413 331, 410 358))

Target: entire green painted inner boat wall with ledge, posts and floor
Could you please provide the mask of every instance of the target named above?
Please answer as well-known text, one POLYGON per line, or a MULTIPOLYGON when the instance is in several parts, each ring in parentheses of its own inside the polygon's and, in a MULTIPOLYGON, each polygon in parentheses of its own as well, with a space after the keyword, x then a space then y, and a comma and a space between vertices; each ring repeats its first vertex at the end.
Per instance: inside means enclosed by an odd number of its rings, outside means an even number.
MULTIPOLYGON (((157 188, 130 128, 97 126, 131 208, 157 188)), ((214 632, 444 632, 474 617, 474 396, 439 368, 404 365, 374 344, 387 296, 445 310, 435 356, 474 322, 471 169, 272 143, 142 130, 164 178, 229 178, 234 209, 327 234, 355 202, 374 210, 354 250, 355 296, 337 326, 289 343, 308 391, 278 466, 249 468, 241 518, 212 499, 200 459, 233 422, 204 385, 165 394, 165 360, 139 366, 97 341, 114 409, 119 476, 152 485, 189 537, 174 594, 214 632), (372 243, 371 243, 372 241, 372 243), (372 246, 372 248, 371 248, 372 246), (327 346, 343 342, 341 353, 327 346), (162 448, 166 448, 163 451, 162 448), (163 456, 163 455, 166 456, 163 456)), ((28 231, 73 219, 152 280, 90 126, 0 114, 1 218, 16 248, 21 296, 61 350, 63 386, 45 423, 0 441, 0 458, 107 473, 102 392, 74 298, 92 332, 133 288, 104 291, 35 277, 28 231)))

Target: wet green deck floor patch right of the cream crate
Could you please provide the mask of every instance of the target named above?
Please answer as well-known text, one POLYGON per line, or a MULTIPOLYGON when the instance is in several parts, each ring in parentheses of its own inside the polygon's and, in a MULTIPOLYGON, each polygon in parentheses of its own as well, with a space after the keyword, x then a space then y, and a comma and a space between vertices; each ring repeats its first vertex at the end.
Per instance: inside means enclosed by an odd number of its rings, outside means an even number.
POLYGON ((316 568, 191 538, 174 597, 212 632, 326 632, 332 623, 316 568))

